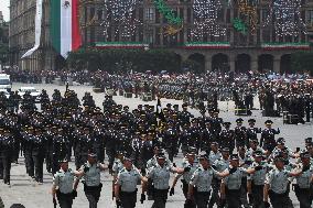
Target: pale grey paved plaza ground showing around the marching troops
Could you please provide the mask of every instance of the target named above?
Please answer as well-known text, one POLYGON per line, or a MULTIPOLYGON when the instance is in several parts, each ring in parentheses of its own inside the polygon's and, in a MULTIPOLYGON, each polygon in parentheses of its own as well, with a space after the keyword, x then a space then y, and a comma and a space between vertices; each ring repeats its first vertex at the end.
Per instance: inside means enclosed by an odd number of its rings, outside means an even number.
MULTIPOLYGON (((22 85, 22 84, 13 84, 13 90, 19 89, 21 86, 30 86, 30 85, 22 85)), ((62 94, 65 91, 65 86, 56 86, 56 85, 32 85, 35 86, 37 89, 46 89, 48 95, 51 96, 53 94, 53 90, 55 88, 60 89, 62 94)), ((74 89, 79 99, 83 98, 85 91, 90 91, 97 106, 101 107, 102 100, 105 98, 104 94, 94 94, 93 88, 90 86, 75 86, 69 87, 71 89, 74 89)), ((114 97, 117 103, 120 105, 128 105, 130 109, 137 107, 139 103, 149 103, 149 105, 156 105, 156 101, 152 102, 143 102, 140 99, 137 98, 123 98, 116 96, 114 97)), ((181 100, 166 100, 162 99, 162 105, 165 106, 165 103, 179 103, 182 105, 181 100)), ((258 101, 256 99, 255 101, 256 107, 258 108, 258 101)), ((235 123, 235 120, 238 117, 235 117, 234 113, 234 102, 229 101, 228 103, 226 101, 219 102, 219 109, 220 109, 220 117, 224 119, 224 121, 230 121, 231 123, 235 123)), ((191 109, 190 110, 195 116, 199 116, 199 113, 196 110, 191 109)), ((263 128, 265 121, 269 118, 261 117, 261 113, 259 110, 255 110, 252 112, 251 117, 242 117, 245 120, 244 124, 247 125, 247 120, 249 118, 255 118, 257 120, 256 127, 263 128)), ((270 118, 274 123, 273 128, 280 128, 280 135, 283 136, 287 140, 287 145, 291 147, 292 150, 295 150, 295 147, 304 147, 304 138, 313 136, 313 123, 306 123, 301 125, 290 125, 290 124, 283 124, 282 118, 270 118)), ((233 124, 234 127, 234 124, 233 124)), ((176 163, 180 163, 182 160, 182 155, 180 154, 177 158, 175 158, 176 163)), ((71 166, 74 167, 74 164, 71 163, 71 166)), ((45 169, 45 167, 44 167, 45 169)), ((19 160, 19 164, 12 164, 12 177, 11 177, 11 187, 8 187, 7 185, 3 185, 0 182, 0 196, 2 197, 6 207, 10 207, 14 202, 23 204, 26 208, 52 208, 52 197, 50 194, 51 185, 52 185, 52 175, 48 173, 44 173, 44 183, 43 185, 36 185, 33 182, 30 180, 29 176, 25 173, 25 166, 23 158, 19 160)), ((101 182, 104 184, 100 201, 98 204, 98 207, 100 208, 111 208, 115 207, 115 204, 111 199, 111 176, 106 172, 101 175, 101 182)), ((169 197, 166 207, 168 208, 182 208, 184 204, 184 196, 182 194, 182 190, 180 188, 181 183, 176 185, 175 188, 175 195, 169 197)), ((138 195, 140 197, 140 195, 138 195)), ((295 207, 299 207, 299 202, 294 196, 294 193, 291 191, 291 198, 294 202, 295 207)), ((138 200, 139 201, 139 200, 138 200)), ((137 204, 137 207, 143 208, 143 207, 151 207, 152 201, 144 201, 143 205, 140 202, 137 204)), ((74 200, 74 208, 87 208, 88 202, 83 191, 83 184, 78 187, 78 197, 74 200)))

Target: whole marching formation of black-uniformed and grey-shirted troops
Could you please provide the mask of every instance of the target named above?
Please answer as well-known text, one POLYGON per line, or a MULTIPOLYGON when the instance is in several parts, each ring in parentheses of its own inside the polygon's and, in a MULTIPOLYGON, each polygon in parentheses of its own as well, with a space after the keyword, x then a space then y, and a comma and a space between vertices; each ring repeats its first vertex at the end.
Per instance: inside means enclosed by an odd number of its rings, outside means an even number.
POLYGON ((311 207, 312 139, 302 151, 290 150, 271 120, 256 127, 256 120, 238 118, 231 127, 217 105, 199 108, 199 117, 188 111, 190 103, 160 109, 159 101, 131 111, 109 95, 99 108, 90 94, 79 100, 68 88, 51 97, 43 90, 37 99, 14 92, 0 98, 0 178, 10 186, 11 164, 23 157, 26 174, 40 185, 45 163, 54 176, 55 207, 72 207, 83 182, 90 208, 104 189, 118 207, 136 207, 140 193, 141 204, 153 200, 153 208, 164 208, 180 178, 187 208, 289 208, 290 191, 301 207, 311 207), (101 172, 112 175, 111 187, 102 187, 101 172))

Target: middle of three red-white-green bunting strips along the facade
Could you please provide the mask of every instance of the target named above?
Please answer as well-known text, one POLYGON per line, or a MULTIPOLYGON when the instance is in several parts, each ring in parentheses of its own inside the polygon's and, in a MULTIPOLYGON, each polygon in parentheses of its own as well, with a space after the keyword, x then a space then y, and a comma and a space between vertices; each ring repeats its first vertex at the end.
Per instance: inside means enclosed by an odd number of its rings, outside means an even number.
POLYGON ((224 50, 229 48, 230 44, 228 42, 192 42, 185 43, 183 47, 186 50, 224 50))

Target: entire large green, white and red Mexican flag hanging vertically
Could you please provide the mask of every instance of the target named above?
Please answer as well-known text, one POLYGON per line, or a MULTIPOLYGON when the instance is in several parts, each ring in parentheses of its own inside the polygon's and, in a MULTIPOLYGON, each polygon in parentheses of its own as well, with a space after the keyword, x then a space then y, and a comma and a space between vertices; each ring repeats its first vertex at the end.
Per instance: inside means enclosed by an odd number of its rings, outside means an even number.
POLYGON ((66 58, 79 48, 79 0, 51 0, 51 39, 53 47, 66 58))

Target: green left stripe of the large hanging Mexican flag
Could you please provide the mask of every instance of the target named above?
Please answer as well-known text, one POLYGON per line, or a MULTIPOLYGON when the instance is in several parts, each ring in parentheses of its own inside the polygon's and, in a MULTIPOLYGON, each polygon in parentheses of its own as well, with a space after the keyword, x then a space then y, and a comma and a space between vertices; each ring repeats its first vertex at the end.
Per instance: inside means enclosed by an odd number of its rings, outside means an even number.
POLYGON ((61 0, 51 0, 51 37, 52 45, 57 52, 61 52, 61 0))

